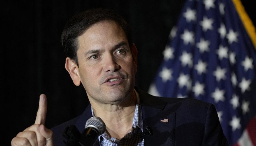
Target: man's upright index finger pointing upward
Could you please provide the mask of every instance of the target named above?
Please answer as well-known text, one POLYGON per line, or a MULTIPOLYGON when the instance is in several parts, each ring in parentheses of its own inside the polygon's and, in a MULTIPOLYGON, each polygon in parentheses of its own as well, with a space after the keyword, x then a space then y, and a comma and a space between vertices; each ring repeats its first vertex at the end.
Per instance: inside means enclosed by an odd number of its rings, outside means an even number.
POLYGON ((41 94, 39 99, 37 117, 35 118, 35 124, 45 124, 46 112, 47 112, 47 99, 45 94, 41 94))

